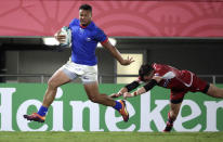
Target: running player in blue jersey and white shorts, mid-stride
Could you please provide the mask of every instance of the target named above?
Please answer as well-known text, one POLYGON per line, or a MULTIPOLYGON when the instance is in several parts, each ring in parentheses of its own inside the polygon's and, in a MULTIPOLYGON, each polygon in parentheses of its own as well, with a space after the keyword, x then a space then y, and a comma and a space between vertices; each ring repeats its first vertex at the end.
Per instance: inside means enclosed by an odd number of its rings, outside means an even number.
MULTIPOLYGON (((104 31, 92 22, 92 8, 89 4, 80 5, 79 20, 74 18, 69 24, 69 29, 71 30, 70 61, 56 70, 50 78, 39 111, 31 115, 24 115, 24 118, 44 122, 45 114, 55 98, 57 87, 80 77, 87 95, 92 102, 114 107, 121 114, 123 120, 128 121, 129 113, 124 101, 114 101, 108 95, 99 92, 97 61, 95 56, 97 42, 101 42, 121 65, 129 65, 134 61, 132 57, 123 60, 119 51, 110 44, 104 31)), ((55 38, 62 43, 66 37, 60 35, 60 33, 61 30, 55 34, 55 38)))

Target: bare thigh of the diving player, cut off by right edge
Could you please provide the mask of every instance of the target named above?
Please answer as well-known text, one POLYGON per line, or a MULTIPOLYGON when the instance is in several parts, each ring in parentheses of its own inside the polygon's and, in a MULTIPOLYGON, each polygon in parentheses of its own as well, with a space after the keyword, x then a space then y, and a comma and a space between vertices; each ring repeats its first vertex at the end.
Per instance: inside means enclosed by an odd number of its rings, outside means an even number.
POLYGON ((218 88, 218 87, 213 86, 212 83, 210 83, 210 87, 208 89, 207 94, 210 96, 213 96, 213 98, 223 99, 223 89, 218 88))

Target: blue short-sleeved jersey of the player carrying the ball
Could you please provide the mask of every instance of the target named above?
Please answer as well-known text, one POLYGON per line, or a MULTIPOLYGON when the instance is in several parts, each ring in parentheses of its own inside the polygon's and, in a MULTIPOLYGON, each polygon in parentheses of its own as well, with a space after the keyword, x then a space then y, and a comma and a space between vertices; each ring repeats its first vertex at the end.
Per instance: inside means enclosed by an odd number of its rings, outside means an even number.
POLYGON ((99 42, 107 41, 104 31, 93 22, 87 27, 81 27, 77 18, 71 21, 69 28, 71 30, 71 61, 90 66, 97 64, 95 49, 99 42))

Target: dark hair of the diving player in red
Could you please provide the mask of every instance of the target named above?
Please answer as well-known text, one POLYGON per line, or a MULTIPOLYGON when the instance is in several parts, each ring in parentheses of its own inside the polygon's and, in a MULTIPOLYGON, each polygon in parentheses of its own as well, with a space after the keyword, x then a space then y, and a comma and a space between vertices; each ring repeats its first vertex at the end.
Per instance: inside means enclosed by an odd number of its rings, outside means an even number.
POLYGON ((144 76, 149 75, 154 70, 154 68, 152 67, 152 64, 143 64, 140 67, 139 70, 139 76, 141 78, 142 81, 144 81, 144 76))

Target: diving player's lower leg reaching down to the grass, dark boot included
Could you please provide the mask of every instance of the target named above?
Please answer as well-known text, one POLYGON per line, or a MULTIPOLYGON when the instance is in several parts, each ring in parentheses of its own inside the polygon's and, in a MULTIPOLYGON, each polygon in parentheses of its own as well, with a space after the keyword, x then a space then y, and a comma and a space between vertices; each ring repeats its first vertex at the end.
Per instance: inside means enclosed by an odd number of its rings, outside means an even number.
POLYGON ((179 115, 181 104, 182 103, 178 103, 178 104, 170 103, 170 112, 168 113, 168 121, 167 121, 167 126, 163 130, 165 132, 171 131, 171 129, 173 127, 173 122, 175 121, 175 119, 179 115))

